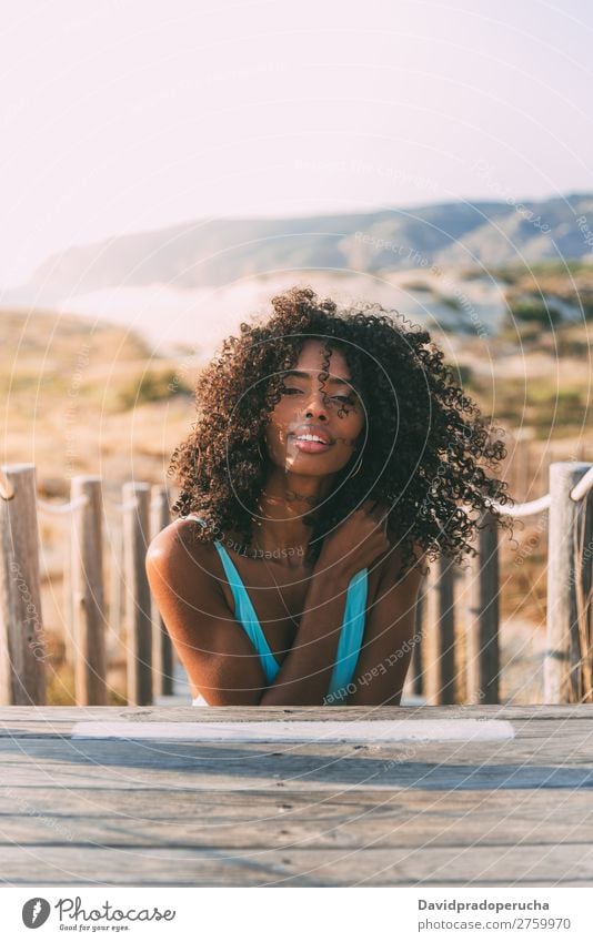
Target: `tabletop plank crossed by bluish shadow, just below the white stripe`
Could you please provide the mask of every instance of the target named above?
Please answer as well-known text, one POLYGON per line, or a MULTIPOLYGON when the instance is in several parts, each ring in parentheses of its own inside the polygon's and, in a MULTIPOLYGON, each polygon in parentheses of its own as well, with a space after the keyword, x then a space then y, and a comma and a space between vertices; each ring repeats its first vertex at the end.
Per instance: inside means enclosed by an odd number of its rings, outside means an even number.
MULTIPOLYGON (((193 789, 245 791, 250 789, 292 789, 295 791, 335 792, 343 789, 366 788, 389 790, 474 790, 474 789, 533 789, 533 788, 593 788, 593 763, 563 759, 549 761, 542 757, 529 761, 529 754, 507 757, 472 756, 471 748, 439 756, 438 743, 432 743, 429 756, 425 747, 418 752, 352 756, 340 754, 348 747, 326 745, 319 749, 280 748, 250 743, 237 748, 222 743, 219 749, 171 743, 155 749, 132 751, 131 743, 92 743, 92 749, 54 757, 44 754, 44 743, 30 741, 38 749, 29 754, 14 751, 3 756, 3 782, 10 788, 37 786, 44 789, 94 789, 110 786, 113 790, 150 787, 172 790, 193 789), (120 750, 117 750, 117 746, 120 750), (336 751, 338 750, 338 754, 336 751), (41 752, 39 756, 38 753, 41 752)), ((59 745, 59 743, 54 743, 59 745)), ((475 749, 475 748, 474 748, 475 749)))

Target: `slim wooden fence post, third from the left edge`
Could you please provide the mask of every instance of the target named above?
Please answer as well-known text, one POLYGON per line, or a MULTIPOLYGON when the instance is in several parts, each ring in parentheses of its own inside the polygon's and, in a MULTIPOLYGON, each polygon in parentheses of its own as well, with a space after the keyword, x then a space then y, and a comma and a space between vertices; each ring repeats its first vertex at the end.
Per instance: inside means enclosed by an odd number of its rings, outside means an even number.
POLYGON ((123 485, 123 558, 128 646, 128 703, 152 703, 150 586, 144 565, 149 545, 150 485, 123 485))

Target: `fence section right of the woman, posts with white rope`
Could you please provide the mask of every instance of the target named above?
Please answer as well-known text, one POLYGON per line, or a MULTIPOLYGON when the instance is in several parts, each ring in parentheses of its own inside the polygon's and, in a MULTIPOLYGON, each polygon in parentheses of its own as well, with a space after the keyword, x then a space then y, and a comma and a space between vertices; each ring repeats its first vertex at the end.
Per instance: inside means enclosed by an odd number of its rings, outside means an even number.
MULTIPOLYGON (((555 462, 549 482, 543 497, 497 509, 515 518, 549 514, 544 702, 593 702, 593 465, 555 462)), ((464 569, 441 558, 420 594, 413 690, 429 703, 459 702, 459 618, 465 621, 465 702, 500 701, 499 531, 491 514, 480 526, 478 556, 464 569)))

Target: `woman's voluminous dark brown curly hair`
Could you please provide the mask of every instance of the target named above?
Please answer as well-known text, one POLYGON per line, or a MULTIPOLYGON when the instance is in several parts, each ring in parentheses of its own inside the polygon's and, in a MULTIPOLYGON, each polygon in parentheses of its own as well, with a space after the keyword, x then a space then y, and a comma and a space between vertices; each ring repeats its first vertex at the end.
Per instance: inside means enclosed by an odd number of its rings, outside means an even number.
POLYGON ((203 518, 204 526, 193 528, 197 540, 234 530, 251 544, 250 508, 267 479, 265 426, 282 395, 283 372, 311 338, 324 343, 324 371, 333 348, 343 353, 366 418, 360 474, 349 466, 339 472, 319 516, 303 517, 312 527, 312 560, 324 535, 369 497, 390 508, 399 575, 418 560, 418 547, 429 559, 445 555, 460 563, 475 555, 471 541, 486 510, 500 526, 512 525, 491 505, 511 500, 506 483, 484 470, 496 473, 506 455, 494 437, 502 429, 465 395, 426 331, 375 303, 339 311, 309 286, 271 303, 273 313, 241 323, 240 336, 225 338, 200 374, 198 421, 171 457, 168 475, 181 488, 171 510, 203 518))

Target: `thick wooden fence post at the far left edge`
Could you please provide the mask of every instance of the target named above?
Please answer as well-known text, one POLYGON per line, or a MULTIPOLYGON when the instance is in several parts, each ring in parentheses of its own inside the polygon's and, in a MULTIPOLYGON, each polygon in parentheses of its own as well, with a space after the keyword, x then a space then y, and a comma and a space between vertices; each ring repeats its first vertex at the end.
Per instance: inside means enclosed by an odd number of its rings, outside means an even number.
POLYGON ((46 703, 34 465, 0 474, 0 703, 46 703))

